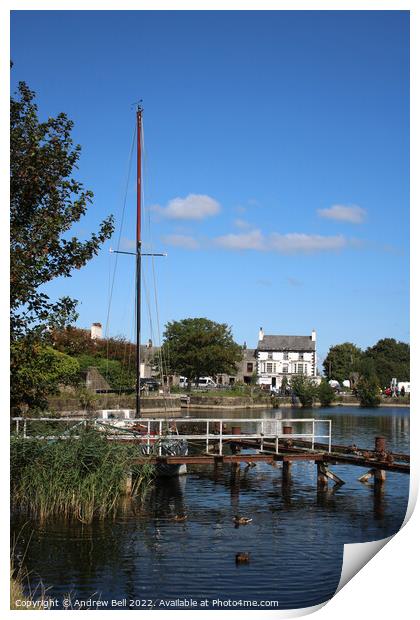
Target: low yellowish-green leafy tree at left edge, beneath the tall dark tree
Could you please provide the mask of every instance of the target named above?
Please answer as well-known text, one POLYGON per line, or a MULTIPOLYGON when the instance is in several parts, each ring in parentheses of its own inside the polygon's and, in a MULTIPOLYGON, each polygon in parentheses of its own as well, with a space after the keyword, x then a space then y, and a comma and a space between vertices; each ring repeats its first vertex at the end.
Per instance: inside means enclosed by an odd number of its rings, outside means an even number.
POLYGON ((20 340, 12 343, 11 402, 13 407, 47 406, 48 396, 57 394, 60 385, 75 385, 79 380, 77 360, 52 347, 20 340))

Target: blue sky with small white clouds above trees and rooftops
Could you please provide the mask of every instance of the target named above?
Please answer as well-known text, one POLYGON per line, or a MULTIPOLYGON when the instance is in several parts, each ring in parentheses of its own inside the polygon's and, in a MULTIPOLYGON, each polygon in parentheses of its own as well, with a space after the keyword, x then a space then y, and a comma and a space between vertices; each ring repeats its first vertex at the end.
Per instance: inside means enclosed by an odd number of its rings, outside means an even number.
MULTIPOLYGON (((255 346, 260 326, 315 328, 321 357, 408 341, 408 12, 18 11, 11 28, 12 90, 25 80, 41 118, 75 121, 76 178, 95 194, 78 236, 109 213, 121 223, 143 99, 144 242, 168 252, 155 261, 161 330, 207 316, 255 346)), ((117 238, 48 286, 80 300, 82 327, 107 322, 117 238)), ((119 257, 113 335, 133 333, 133 268, 119 257)), ((144 318, 145 340, 146 305, 144 318)))

